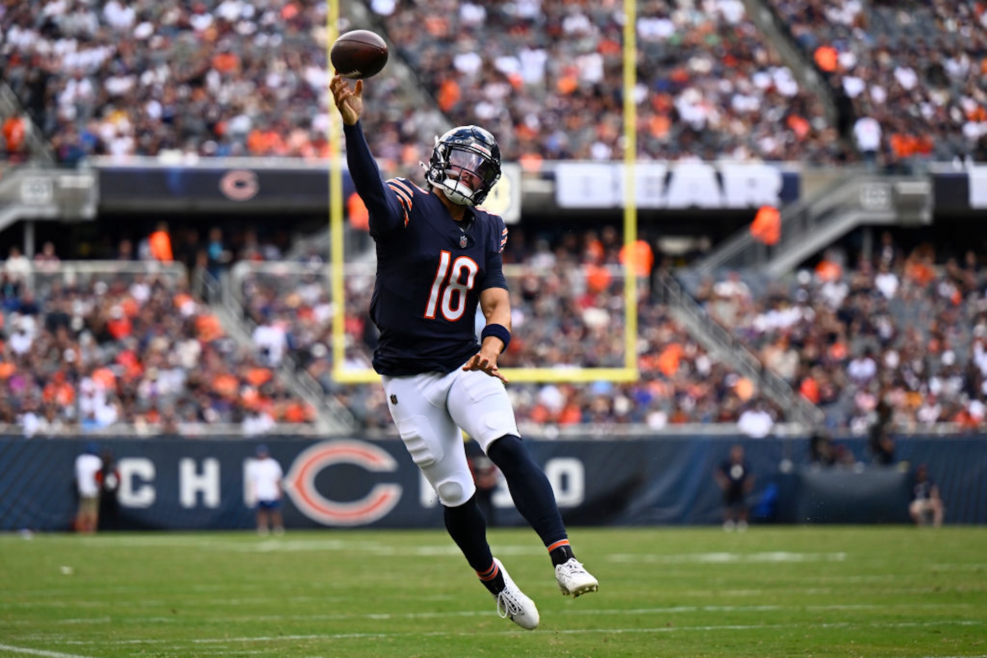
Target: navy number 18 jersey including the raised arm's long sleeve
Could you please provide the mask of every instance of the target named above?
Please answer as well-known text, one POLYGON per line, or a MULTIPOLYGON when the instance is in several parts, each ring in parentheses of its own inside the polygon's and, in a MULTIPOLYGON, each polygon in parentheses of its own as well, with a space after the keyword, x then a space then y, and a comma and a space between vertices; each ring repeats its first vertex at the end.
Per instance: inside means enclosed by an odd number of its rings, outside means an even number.
POLYGON ((452 372, 480 350, 481 291, 507 287, 500 256, 507 227, 477 208, 458 222, 430 191, 407 179, 383 182, 359 122, 343 134, 377 247, 374 370, 392 377, 452 372))

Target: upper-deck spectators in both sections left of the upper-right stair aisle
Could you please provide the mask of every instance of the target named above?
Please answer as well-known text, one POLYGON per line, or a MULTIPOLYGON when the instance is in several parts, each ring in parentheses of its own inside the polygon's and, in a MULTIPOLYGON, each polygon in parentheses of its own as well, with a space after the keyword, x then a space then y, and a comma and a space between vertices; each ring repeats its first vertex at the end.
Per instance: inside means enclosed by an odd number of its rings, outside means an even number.
MULTIPOLYGON (((616 3, 371 7, 437 110, 488 124, 506 159, 622 157, 616 3)), ((651 1, 640 12, 648 65, 635 94, 645 157, 837 157, 821 106, 739 0, 651 1)), ((312 2, 7 2, 0 75, 66 163, 89 155, 322 158, 325 23, 325 4, 312 2)), ((434 116, 393 77, 374 79, 368 94, 372 107, 386 108, 374 117, 374 153, 395 168, 417 167, 420 144, 438 131, 434 116)))

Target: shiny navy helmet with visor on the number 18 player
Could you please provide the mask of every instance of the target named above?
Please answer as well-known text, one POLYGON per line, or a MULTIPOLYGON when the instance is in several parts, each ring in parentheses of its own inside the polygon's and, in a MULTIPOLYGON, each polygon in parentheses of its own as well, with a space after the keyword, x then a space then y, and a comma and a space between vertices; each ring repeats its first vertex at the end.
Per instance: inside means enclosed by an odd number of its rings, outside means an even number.
POLYGON ((500 147, 477 125, 461 125, 435 138, 425 181, 453 203, 479 205, 500 179, 500 147))

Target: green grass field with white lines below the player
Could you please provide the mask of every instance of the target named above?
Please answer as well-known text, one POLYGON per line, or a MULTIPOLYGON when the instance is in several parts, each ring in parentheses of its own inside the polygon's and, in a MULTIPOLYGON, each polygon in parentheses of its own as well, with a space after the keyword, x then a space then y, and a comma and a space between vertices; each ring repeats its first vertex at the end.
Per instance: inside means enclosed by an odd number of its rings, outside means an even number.
POLYGON ((574 528, 559 594, 527 530, 492 544, 525 631, 441 531, 0 536, 3 656, 987 656, 987 529, 574 528))

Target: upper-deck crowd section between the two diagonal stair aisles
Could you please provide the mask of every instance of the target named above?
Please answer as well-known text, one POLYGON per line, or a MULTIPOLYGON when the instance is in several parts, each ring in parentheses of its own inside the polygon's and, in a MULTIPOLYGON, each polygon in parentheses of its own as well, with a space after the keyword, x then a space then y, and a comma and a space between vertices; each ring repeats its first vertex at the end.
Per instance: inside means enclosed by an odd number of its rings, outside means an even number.
MULTIPOLYGON (((618 2, 372 2, 453 122, 480 122, 510 160, 620 160, 618 2)), ((639 153, 831 163, 839 140, 739 0, 639 3, 639 153)))

